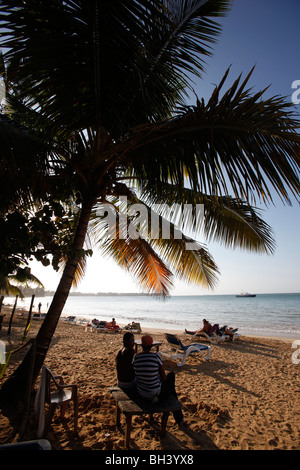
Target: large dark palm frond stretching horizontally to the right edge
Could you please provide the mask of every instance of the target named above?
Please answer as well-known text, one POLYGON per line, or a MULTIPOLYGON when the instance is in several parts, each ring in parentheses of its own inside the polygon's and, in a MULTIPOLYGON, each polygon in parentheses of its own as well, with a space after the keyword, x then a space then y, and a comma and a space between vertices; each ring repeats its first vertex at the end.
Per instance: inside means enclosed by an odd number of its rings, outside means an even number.
MULTIPOLYGON (((116 154, 139 180, 170 182, 206 194, 272 201, 271 188, 299 198, 300 121, 283 98, 251 95, 240 77, 219 98, 227 73, 207 104, 183 107, 168 121, 141 125, 116 154), (240 86, 239 86, 240 85, 240 86)), ((114 158, 112 156, 112 158, 114 158)))

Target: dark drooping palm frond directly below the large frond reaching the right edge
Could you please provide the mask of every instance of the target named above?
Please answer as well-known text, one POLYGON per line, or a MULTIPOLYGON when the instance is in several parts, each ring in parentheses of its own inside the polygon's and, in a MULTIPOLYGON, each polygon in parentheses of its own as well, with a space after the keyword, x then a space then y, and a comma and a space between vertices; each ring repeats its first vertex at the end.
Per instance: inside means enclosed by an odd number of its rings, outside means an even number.
POLYGON ((273 253, 272 228, 260 216, 260 210, 230 196, 210 196, 170 184, 143 185, 141 199, 168 216, 172 211, 182 230, 192 230, 208 242, 226 248, 258 253, 273 253))

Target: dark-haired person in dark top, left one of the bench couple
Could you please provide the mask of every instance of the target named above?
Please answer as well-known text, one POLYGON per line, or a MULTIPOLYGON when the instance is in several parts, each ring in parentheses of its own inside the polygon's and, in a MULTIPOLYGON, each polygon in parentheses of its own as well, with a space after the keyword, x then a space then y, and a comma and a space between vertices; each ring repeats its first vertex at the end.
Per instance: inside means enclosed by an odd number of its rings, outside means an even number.
POLYGON ((116 356, 116 368, 118 387, 133 388, 135 386, 135 373, 132 364, 134 351, 134 335, 127 332, 123 336, 123 348, 120 349, 116 356))

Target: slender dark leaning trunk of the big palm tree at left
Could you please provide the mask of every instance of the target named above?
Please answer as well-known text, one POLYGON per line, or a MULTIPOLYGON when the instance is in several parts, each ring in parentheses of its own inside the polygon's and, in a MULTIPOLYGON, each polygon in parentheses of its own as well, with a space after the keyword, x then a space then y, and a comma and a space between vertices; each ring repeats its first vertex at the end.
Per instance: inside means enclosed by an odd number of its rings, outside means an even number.
POLYGON ((76 228, 72 245, 72 256, 68 258, 62 277, 52 299, 46 318, 36 337, 36 358, 33 371, 33 380, 37 379, 39 371, 43 365, 52 337, 57 327, 60 315, 67 301, 74 275, 80 260, 80 250, 84 246, 84 241, 88 229, 94 200, 83 201, 79 222, 76 228))

